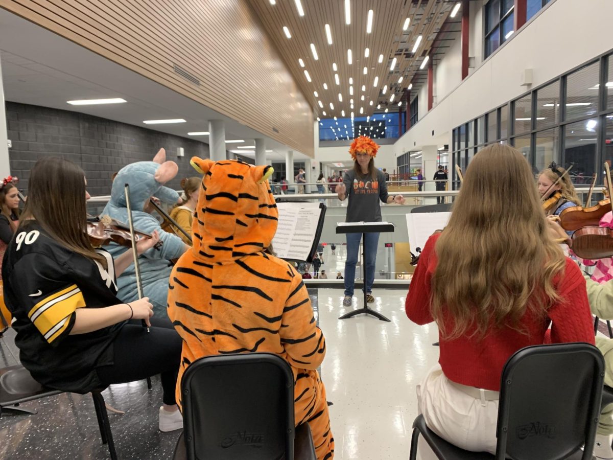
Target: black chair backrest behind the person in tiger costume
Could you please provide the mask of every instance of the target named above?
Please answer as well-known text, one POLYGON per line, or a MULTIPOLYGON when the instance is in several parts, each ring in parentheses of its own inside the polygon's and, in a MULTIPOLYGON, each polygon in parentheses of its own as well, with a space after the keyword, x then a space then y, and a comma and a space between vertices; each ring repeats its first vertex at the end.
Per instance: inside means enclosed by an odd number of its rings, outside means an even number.
POLYGON ((181 382, 188 459, 293 460, 294 375, 270 353, 205 356, 181 382))

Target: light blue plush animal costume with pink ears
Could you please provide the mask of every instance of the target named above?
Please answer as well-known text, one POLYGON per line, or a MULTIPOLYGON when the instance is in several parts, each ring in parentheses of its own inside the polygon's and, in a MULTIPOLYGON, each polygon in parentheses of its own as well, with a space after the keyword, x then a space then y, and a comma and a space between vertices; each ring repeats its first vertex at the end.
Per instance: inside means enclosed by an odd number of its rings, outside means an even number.
MULTIPOLYGON (((180 237, 162 231, 156 218, 144 212, 145 205, 152 196, 167 204, 176 204, 179 196, 174 190, 164 184, 177 175, 178 166, 173 161, 166 161, 166 151, 158 151, 153 161, 139 161, 124 166, 117 173, 111 190, 109 203, 102 211, 102 215, 109 215, 116 220, 128 223, 128 209, 124 185, 130 185, 130 204, 132 206, 132 219, 134 228, 152 233, 157 230, 163 242, 159 249, 151 248, 139 256, 140 278, 143 284, 143 293, 149 297, 153 304, 156 318, 168 318, 166 312, 166 299, 168 297, 168 282, 172 271, 172 259, 179 258, 187 246, 180 237)), ((104 247, 113 258, 124 251, 131 250, 115 243, 104 247)), ((117 280, 119 291, 117 296, 124 302, 132 302, 139 298, 136 285, 134 264, 131 264, 117 280)))

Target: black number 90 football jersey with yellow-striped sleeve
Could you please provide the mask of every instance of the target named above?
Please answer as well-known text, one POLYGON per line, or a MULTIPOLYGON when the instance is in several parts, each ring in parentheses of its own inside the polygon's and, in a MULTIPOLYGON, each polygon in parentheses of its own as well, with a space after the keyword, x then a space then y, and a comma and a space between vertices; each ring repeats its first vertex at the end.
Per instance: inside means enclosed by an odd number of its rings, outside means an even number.
POLYGON ((31 221, 18 229, 3 259, 4 301, 15 318, 20 361, 42 385, 88 393, 101 386, 96 367, 113 364, 123 323, 70 335, 75 311, 121 304, 113 259, 107 270, 53 240, 31 221))

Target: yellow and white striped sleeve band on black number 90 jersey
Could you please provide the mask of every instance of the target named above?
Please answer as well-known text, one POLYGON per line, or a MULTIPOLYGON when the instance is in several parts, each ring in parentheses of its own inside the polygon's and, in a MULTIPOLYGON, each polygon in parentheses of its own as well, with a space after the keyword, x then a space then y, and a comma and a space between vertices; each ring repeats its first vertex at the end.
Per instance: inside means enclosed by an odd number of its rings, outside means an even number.
POLYGON ((85 307, 83 294, 77 285, 72 285, 38 302, 28 316, 47 342, 51 343, 66 330, 69 316, 82 307, 85 307))

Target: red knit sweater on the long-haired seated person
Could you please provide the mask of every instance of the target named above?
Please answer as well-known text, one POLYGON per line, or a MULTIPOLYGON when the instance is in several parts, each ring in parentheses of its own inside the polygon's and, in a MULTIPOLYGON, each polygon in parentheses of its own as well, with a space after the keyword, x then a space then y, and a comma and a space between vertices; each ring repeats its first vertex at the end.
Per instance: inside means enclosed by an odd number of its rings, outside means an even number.
MULTIPOLYGON (((406 316, 417 324, 433 321, 430 313, 430 286, 437 263, 435 243, 438 237, 436 234, 428 239, 406 296, 406 316)), ((462 385, 500 391, 500 375, 504 363, 520 348, 544 343, 550 323, 552 343, 593 344, 592 314, 587 301, 585 280, 577 264, 566 258, 565 272, 554 279, 554 285, 562 301, 547 310, 546 318, 536 318, 533 313, 526 312, 521 322, 527 333, 492 326, 483 339, 463 335, 458 339, 445 340, 439 334, 439 362, 446 377, 462 385)), ((451 327, 451 324, 450 320, 445 326, 451 327)))

